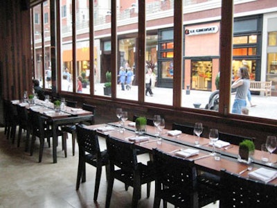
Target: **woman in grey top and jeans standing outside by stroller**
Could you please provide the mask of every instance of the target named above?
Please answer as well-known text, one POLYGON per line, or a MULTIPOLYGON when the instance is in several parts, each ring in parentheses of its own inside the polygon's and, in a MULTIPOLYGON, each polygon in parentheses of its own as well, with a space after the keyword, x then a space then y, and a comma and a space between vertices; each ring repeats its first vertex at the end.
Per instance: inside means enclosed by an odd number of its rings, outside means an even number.
POLYGON ((249 72, 247 67, 238 69, 238 80, 231 85, 232 89, 237 89, 235 93, 235 101, 233 103, 232 113, 241 114, 242 108, 247 106, 247 94, 249 92, 249 72))

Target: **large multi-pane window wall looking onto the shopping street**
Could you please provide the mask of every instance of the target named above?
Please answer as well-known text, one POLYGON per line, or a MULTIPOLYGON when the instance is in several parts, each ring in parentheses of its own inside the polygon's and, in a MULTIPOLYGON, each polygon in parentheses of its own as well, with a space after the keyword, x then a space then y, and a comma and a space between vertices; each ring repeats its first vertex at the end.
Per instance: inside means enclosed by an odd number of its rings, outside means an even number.
MULTIPOLYGON (((33 8, 33 60, 35 78, 52 89, 54 83, 47 74, 53 67, 50 37, 56 34, 51 33, 47 2, 33 8)), ((222 65, 220 54, 222 22, 226 22, 221 3, 225 1, 143 2, 59 1, 57 92, 237 117, 231 113, 235 100, 231 84, 238 79, 240 67, 247 67, 250 80, 275 80, 276 29, 271 20, 271 30, 262 37, 262 15, 249 16, 251 7, 244 1, 234 1, 247 15, 234 14, 233 40, 229 40, 233 47, 225 54, 232 57, 229 63, 225 57, 223 61, 228 67, 222 65), (262 56, 264 44, 268 52, 262 56), (63 79, 69 87, 63 87, 63 79), (225 80, 223 88, 221 80, 225 80), (219 98, 219 92, 224 96, 219 98), (215 93, 217 98, 211 99, 215 93)), ((267 107, 262 93, 251 92, 251 99, 267 107)), ((249 103, 246 107, 251 109, 248 116, 275 119, 258 114, 258 107, 253 109, 249 103)))

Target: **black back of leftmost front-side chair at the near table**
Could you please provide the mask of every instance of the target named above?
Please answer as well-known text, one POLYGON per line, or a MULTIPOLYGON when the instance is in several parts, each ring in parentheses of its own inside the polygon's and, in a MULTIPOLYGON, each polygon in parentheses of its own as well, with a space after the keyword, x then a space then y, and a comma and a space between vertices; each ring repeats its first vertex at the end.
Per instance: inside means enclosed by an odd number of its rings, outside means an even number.
POLYGON ((85 153, 100 156, 100 146, 96 130, 85 128, 85 125, 76 125, 77 141, 79 145, 79 155, 84 156, 85 153))

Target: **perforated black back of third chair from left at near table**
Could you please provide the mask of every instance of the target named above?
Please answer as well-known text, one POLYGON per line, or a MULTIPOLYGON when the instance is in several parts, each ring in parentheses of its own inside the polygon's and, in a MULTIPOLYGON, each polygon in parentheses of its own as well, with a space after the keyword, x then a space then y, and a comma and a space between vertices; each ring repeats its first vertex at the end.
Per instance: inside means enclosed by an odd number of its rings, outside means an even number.
POLYGON ((193 161, 175 157, 153 149, 156 182, 159 187, 180 191, 193 191, 197 181, 197 171, 193 161))

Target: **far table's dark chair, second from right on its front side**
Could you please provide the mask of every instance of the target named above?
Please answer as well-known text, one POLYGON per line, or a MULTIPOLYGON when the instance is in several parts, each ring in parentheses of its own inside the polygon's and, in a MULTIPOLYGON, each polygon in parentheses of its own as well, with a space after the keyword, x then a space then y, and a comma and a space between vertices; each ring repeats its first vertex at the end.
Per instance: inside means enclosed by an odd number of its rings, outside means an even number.
POLYGON ((26 142, 25 142, 25 151, 28 151, 29 140, 30 140, 30 130, 31 122, 28 119, 28 111, 26 107, 17 105, 17 115, 19 119, 19 131, 17 137, 17 147, 20 146, 20 140, 22 136, 22 130, 26 130, 26 142))

